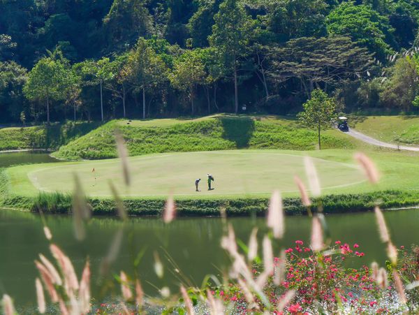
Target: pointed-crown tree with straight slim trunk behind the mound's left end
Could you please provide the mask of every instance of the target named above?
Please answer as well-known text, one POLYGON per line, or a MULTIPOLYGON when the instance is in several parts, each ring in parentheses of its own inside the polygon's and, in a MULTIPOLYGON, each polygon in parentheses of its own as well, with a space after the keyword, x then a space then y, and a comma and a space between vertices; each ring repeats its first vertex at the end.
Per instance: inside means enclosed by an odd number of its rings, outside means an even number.
POLYGON ((142 118, 145 119, 145 91, 167 80, 167 66, 147 41, 140 38, 128 55, 123 71, 134 91, 142 91, 142 118))

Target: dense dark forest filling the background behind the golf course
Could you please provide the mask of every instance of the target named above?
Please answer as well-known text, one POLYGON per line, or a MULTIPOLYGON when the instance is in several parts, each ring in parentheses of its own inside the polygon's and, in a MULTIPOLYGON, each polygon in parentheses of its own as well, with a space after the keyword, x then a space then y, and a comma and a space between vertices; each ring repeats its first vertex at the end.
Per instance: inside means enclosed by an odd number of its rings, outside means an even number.
POLYGON ((286 114, 315 88, 346 110, 419 104, 413 0, 25 0, 0 10, 1 122, 286 114))

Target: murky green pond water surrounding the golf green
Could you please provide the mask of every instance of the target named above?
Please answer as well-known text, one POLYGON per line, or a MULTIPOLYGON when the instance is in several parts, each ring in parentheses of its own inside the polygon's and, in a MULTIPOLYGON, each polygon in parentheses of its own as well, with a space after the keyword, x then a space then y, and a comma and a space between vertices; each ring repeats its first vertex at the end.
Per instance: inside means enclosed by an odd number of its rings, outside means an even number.
MULTIPOLYGON (((8 154, 5 154, 8 155, 8 154)), ((10 159, 10 163, 33 163, 49 161, 47 155, 22 152, 10 159), (22 160, 17 159, 22 157, 22 160), (38 160, 39 159, 39 160, 38 160)), ((4 162, 3 154, 0 161, 4 162)), ((1 163, 1 162, 0 162, 1 163)), ((398 210, 385 212, 385 218, 392 239, 397 246, 409 247, 419 244, 419 210, 398 210)), ((341 240, 353 245, 360 244, 359 251, 365 252, 362 258, 354 258, 346 263, 359 267, 378 261, 385 263, 385 249, 379 240, 374 213, 337 214, 326 217, 332 240, 341 240)), ((122 223, 113 217, 95 217, 87 224, 87 237, 78 242, 74 238, 73 221, 67 215, 48 215, 45 217, 50 227, 53 241, 70 256, 80 275, 86 258, 89 257, 92 269, 92 291, 98 300, 105 298, 99 288, 98 270, 103 257, 107 254, 115 233, 122 223)), ((264 218, 230 218, 237 238, 247 243, 254 226, 258 226, 260 238, 266 231, 264 218)), ((295 240, 309 241, 311 221, 308 217, 287 217, 284 240, 274 244, 276 252, 281 247, 293 246, 295 240)), ((221 274, 220 270, 229 265, 229 260, 220 248, 223 224, 219 218, 179 218, 165 225, 159 218, 131 217, 124 226, 123 241, 117 261, 110 269, 112 274, 125 270, 133 274, 133 261, 140 251, 144 256, 136 271, 146 293, 156 294, 156 287, 169 286, 176 290, 179 280, 172 274, 173 266, 168 257, 177 264, 191 284, 200 285, 206 274, 221 274), (158 279, 154 274, 154 251, 159 253, 165 265, 165 277, 158 279)), ((10 294, 20 312, 31 314, 36 302, 34 279, 38 273, 34 260, 39 253, 51 255, 48 242, 43 235, 43 221, 38 214, 0 210, 0 295, 10 294)), ((115 288, 119 292, 119 288, 115 288)))

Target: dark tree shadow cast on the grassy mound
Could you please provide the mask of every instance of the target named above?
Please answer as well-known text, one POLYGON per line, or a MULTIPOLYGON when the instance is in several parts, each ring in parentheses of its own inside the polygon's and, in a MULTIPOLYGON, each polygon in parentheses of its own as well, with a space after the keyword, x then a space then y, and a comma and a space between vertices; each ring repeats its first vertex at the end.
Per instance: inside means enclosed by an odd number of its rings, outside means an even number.
POLYGON ((237 148, 249 146, 249 140, 255 130, 255 122, 249 117, 220 117, 223 125, 222 137, 235 142, 237 148))

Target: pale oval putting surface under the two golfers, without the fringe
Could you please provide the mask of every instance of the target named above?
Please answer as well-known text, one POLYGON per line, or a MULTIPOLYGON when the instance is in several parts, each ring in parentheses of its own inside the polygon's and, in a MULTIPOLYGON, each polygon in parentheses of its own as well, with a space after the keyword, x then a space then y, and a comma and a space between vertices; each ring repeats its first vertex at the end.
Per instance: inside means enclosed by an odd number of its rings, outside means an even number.
MULTIPOLYGON (((314 158, 323 189, 351 186, 363 181, 353 164, 314 158)), ((73 190, 77 173, 89 196, 110 196, 109 182, 124 196, 234 196, 295 192, 294 175, 305 182, 303 156, 274 150, 186 152, 135 156, 129 160, 131 186, 124 189, 119 159, 44 164, 29 171, 31 183, 41 191, 73 190), (92 169, 95 169, 92 172, 92 169), (215 182, 207 190, 207 173, 215 182), (95 180, 96 177, 96 180, 95 180), (200 192, 194 182, 201 178, 200 192)))

